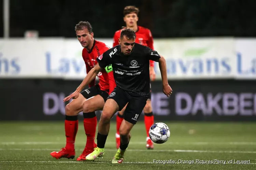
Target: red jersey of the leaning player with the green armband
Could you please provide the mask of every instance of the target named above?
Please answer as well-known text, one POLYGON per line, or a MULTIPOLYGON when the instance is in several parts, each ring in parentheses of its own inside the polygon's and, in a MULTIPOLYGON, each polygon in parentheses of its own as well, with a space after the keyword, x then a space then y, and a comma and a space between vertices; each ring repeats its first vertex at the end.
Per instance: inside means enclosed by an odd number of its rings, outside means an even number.
MULTIPOLYGON (((90 51, 87 51, 86 48, 83 49, 82 56, 85 62, 87 74, 98 63, 96 60, 98 56, 100 56, 109 49, 110 47, 105 45, 105 43, 96 40, 94 40, 93 48, 91 48, 90 51)), ((116 84, 113 76, 113 71, 107 73, 105 69, 102 69, 98 73, 97 77, 99 79, 98 85, 101 90, 108 90, 109 93, 114 90, 116 84)), ((91 86, 95 86, 95 79, 89 83, 89 87, 91 86)))

